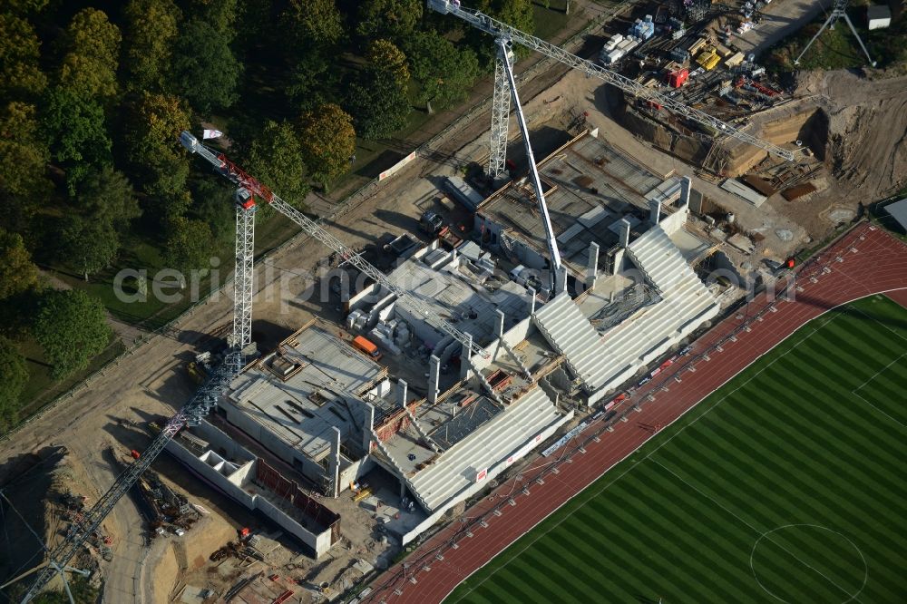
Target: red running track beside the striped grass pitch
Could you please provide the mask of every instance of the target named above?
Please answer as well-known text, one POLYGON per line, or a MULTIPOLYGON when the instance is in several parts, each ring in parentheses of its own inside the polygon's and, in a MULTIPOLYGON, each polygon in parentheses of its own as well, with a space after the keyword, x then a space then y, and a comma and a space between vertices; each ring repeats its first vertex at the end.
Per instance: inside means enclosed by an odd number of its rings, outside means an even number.
MULTIPOLYGON (((641 429, 639 423, 665 426, 676 421, 798 327, 830 308, 881 292, 907 307, 907 246, 882 229, 863 223, 804 265, 796 286, 795 300, 773 303, 767 297, 757 297, 708 331, 694 344, 694 354, 738 333, 735 341, 723 342, 720 349, 710 350, 707 358, 675 363, 658 375, 658 384, 637 390, 633 399, 641 402, 639 414, 630 414, 631 421, 614 424, 614 431, 602 434, 599 443, 585 443, 586 453, 576 452, 579 445, 574 445, 573 463, 562 460, 557 464, 558 473, 546 473, 543 483, 535 482, 535 477, 544 466, 551 465, 554 460, 550 458, 538 458, 521 475, 503 482, 473 505, 461 521, 439 531, 403 563, 379 576, 362 602, 441 602, 473 572, 646 443, 653 434, 641 429), (809 278, 811 274, 814 279, 809 278), (775 311, 753 320, 773 304, 775 311), (749 323, 748 330, 741 330, 745 323, 749 323), (647 395, 654 401, 649 402, 647 395), (515 505, 502 505, 507 499, 515 505), (500 516, 489 513, 495 508, 500 516), (485 525, 474 522, 479 517, 485 525)), ((600 424, 592 424, 586 434, 595 434, 600 428, 600 424)), ((580 440, 581 436, 574 443, 580 440)), ((561 453, 570 453, 570 448, 564 447, 561 453)))

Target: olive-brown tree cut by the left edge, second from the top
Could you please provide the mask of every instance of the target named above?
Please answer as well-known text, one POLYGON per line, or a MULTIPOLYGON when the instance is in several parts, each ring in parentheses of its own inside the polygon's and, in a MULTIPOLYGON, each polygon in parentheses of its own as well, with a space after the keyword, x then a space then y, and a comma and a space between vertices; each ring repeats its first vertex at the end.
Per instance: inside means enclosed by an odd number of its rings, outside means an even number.
POLYGON ((0 190, 26 200, 43 199, 50 151, 38 134, 34 105, 9 102, 0 111, 0 190))

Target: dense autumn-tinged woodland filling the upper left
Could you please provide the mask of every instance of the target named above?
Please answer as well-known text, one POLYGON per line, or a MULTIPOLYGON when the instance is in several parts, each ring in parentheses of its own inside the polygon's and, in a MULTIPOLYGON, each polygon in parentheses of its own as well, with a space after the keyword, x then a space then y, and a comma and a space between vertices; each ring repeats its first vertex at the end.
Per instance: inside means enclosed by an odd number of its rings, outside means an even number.
MULTIPOLYGON (((530 0, 473 5, 532 30, 530 0)), ((35 265, 88 281, 141 241, 194 268, 232 236, 232 191, 181 130, 225 132, 214 145, 304 208, 350 170, 357 137, 462 101, 492 46, 423 0, 0 4, 0 430, 27 379, 21 342, 61 377, 111 338, 97 300, 35 265)))

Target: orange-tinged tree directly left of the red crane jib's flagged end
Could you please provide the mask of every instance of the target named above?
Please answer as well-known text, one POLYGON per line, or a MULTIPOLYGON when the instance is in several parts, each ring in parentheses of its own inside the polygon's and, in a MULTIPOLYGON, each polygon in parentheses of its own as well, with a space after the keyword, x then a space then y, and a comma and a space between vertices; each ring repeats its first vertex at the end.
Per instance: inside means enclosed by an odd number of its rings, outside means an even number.
POLYGON ((185 189, 189 160, 179 136, 190 128, 185 102, 168 94, 144 93, 126 119, 123 146, 141 188, 149 195, 170 196, 185 189))

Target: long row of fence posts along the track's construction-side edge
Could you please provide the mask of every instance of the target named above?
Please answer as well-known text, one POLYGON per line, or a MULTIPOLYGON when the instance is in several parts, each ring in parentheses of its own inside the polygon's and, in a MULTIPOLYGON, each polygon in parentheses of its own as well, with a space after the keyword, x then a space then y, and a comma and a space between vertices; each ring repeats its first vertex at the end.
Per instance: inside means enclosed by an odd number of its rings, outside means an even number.
MULTIPOLYGON (((673 382, 676 376, 690 370, 695 370, 695 365, 697 365, 697 363, 708 360, 709 353, 716 352, 717 349, 720 349, 722 345, 727 345, 728 342, 736 341, 737 336, 743 332, 749 331, 752 328, 751 326, 756 322, 763 320, 766 313, 778 312, 777 306, 779 304, 784 303, 795 296, 795 292, 790 292, 789 288, 793 287, 795 288, 795 291, 799 289, 799 287, 796 286, 796 280, 800 280, 801 282, 803 280, 814 281, 819 275, 829 272, 831 265, 834 262, 841 261, 841 257, 836 253, 830 253, 831 248, 834 248, 835 245, 848 237, 855 237, 853 236, 853 231, 861 224, 863 224, 863 221, 857 223, 857 225, 854 225, 851 229, 845 230, 839 237, 829 242, 823 251, 814 255, 813 258, 810 258, 801 265, 798 270, 790 271, 789 278, 785 279, 785 287, 779 294, 769 296, 763 295, 765 292, 760 292, 756 299, 749 301, 742 307, 738 306, 732 308, 730 312, 726 314, 726 320, 731 316, 737 317, 740 320, 740 323, 736 327, 729 330, 725 336, 717 339, 717 341, 706 348, 697 350, 695 354, 689 354, 683 361, 676 362, 674 364, 676 365, 674 370, 668 372, 668 375, 665 375, 657 382, 653 381, 653 385, 647 390, 649 392, 655 392, 668 385, 668 383, 673 382), (795 278, 791 278, 794 277, 794 273, 795 278)), ((717 326, 714 326, 713 329, 721 329, 724 325, 725 321, 722 321, 718 323, 717 326)), ((701 336, 706 335, 707 334, 702 334, 701 336)), ((527 492, 529 485, 532 483, 541 484, 546 477, 561 472, 563 464, 573 463, 574 457, 581 453, 585 453, 586 446, 589 446, 590 443, 593 442, 600 442, 602 438, 605 438, 605 434, 610 433, 613 430, 614 424, 629 421, 629 414, 638 411, 643 404, 652 403, 652 400, 648 397, 635 395, 633 391, 635 391, 635 388, 631 388, 628 391, 628 395, 618 404, 615 404, 610 408, 610 411, 607 413, 605 412, 604 405, 600 405, 600 410, 595 412, 590 419, 586 420, 586 423, 588 424, 587 428, 594 427, 595 429, 592 431, 587 429, 580 434, 576 434, 570 443, 561 443, 561 447, 559 447, 561 454, 556 461, 546 463, 537 468, 531 467, 528 470, 523 470, 515 479, 509 479, 503 483, 512 482, 513 492, 518 492, 521 488, 522 492, 527 492)), ((479 527, 487 526, 488 521, 491 520, 493 516, 502 515, 502 512, 513 504, 511 497, 501 497, 500 502, 497 502, 492 507, 484 510, 481 514, 470 516, 468 519, 463 518, 460 521, 459 527, 453 531, 453 534, 444 540, 444 542, 437 544, 430 550, 420 551, 417 557, 413 559, 406 559, 405 563, 400 565, 398 570, 389 574, 385 580, 372 585, 372 590, 360 599, 360 604, 366 604, 366 602, 373 601, 387 589, 403 588, 416 571, 421 570, 426 566, 430 566, 434 560, 443 559, 445 551, 455 549, 458 541, 461 541, 463 538, 471 537, 473 531, 476 531, 479 527)), ((440 530, 444 530, 445 528, 446 527, 441 528, 440 530)), ((426 540, 429 538, 428 535, 424 537, 426 540)))

